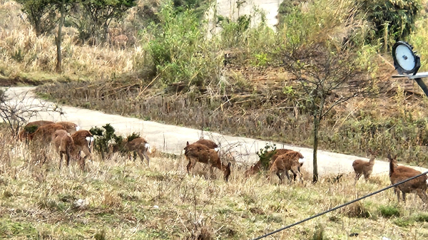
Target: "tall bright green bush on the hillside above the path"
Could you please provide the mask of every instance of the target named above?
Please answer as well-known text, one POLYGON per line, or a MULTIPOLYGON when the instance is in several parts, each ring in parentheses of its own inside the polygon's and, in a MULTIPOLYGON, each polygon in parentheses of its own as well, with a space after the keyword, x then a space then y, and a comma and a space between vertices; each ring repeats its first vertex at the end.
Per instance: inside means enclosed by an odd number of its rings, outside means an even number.
POLYGON ((160 24, 149 26, 154 38, 147 47, 161 82, 165 85, 185 83, 187 88, 203 87, 216 80, 221 60, 205 39, 193 10, 177 12, 172 4, 167 4, 158 17, 160 24))

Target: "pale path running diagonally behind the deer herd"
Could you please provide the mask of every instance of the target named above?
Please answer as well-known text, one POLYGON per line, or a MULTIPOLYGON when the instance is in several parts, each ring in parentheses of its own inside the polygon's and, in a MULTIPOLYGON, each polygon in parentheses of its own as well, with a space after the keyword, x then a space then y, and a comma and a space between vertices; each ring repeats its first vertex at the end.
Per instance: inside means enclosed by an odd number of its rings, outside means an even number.
MULTIPOLYGON (((12 98, 11 101, 16 102, 18 99, 22 99, 24 93, 26 94, 26 100, 24 104, 29 103, 46 103, 44 100, 35 98, 34 93, 31 92, 34 87, 17 87, 9 88, 6 91, 6 95, 12 98)), ((121 134, 128 134, 131 132, 141 132, 143 137, 150 142, 151 146, 161 150, 161 152, 168 152, 175 155, 180 155, 185 143, 187 141, 195 142, 203 134, 205 138, 213 139, 216 142, 220 142, 222 147, 235 145, 233 150, 238 161, 253 163, 258 160, 258 156, 255 154, 260 148, 265 147, 266 141, 254 140, 247 137, 233 137, 228 135, 220 135, 214 132, 201 132, 200 130, 191 129, 188 127, 178 127, 174 125, 165 125, 158 122, 143 121, 137 118, 126 118, 120 115, 110 115, 95 110, 87 110, 82 108, 73 108, 63 106, 63 112, 65 115, 59 115, 58 113, 41 113, 37 118, 31 118, 31 120, 66 120, 70 122, 76 122, 78 125, 83 127, 85 130, 89 130, 93 126, 106 125, 111 123, 115 127, 117 132, 121 134)), ((305 164, 303 168, 308 172, 312 172, 312 149, 305 147, 296 147, 291 145, 283 145, 282 143, 275 142, 277 148, 287 148, 297 150, 305 156, 305 164)), ((362 157, 355 157, 352 155, 343 155, 334 152, 318 151, 318 172, 320 175, 323 174, 337 174, 352 172, 352 162, 356 159, 367 160, 362 157)), ((426 171, 422 167, 414 167, 419 171, 426 171)), ((373 167, 373 174, 388 172, 388 162, 377 161, 373 167)))

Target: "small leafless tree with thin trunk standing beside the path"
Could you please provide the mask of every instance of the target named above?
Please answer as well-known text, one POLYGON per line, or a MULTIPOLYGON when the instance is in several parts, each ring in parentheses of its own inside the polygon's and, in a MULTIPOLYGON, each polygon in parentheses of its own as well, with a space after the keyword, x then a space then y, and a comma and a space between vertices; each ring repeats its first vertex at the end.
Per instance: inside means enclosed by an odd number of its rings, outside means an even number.
MULTIPOLYGON (((336 48, 335 48, 336 49, 336 48)), ((284 66, 305 91, 302 111, 313 117, 313 182, 318 181, 317 149, 322 120, 335 106, 351 98, 379 93, 384 86, 376 84, 355 62, 349 49, 332 51, 322 44, 295 48, 286 54, 284 66)))

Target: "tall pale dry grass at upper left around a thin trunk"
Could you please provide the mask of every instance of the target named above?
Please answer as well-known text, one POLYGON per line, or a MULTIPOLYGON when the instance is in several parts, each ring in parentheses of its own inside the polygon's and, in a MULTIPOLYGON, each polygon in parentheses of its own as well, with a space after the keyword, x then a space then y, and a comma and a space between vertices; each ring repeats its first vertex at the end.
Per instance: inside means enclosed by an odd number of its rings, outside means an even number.
MULTIPOLYGON (((21 19, 21 6, 15 1, 0 4, 0 73, 9 78, 26 75, 29 78, 56 80, 54 72, 56 46, 54 36, 34 33, 29 21, 21 19)), ((25 17, 24 17, 25 19, 25 17)), ((136 62, 143 61, 143 48, 125 50, 112 46, 88 46, 76 44, 75 28, 64 28, 62 43, 63 76, 73 80, 102 80, 113 75, 133 71, 136 62)))

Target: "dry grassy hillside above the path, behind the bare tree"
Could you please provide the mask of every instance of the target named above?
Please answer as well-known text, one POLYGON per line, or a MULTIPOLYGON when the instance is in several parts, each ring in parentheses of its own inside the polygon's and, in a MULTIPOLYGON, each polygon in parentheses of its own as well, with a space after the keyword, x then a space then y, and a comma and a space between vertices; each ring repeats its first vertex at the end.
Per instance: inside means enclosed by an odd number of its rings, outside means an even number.
MULTIPOLYGON (((364 73, 358 78, 375 79, 388 88, 338 105, 322 122, 320 147, 362 156, 368 147, 381 150, 382 156, 394 151, 399 160, 427 166, 427 99, 412 81, 390 78, 395 71, 384 49, 394 35, 375 34, 363 8, 367 1, 293 1, 282 6, 286 11, 276 32, 264 24, 248 28, 250 16, 237 23, 218 16, 223 31, 210 39, 200 14, 209 1, 195 1, 196 10, 186 10, 183 3, 188 2, 138 1, 125 19, 111 24, 130 39, 124 49, 108 43, 90 46, 79 41, 78 29, 67 26, 63 73, 56 74, 54 37, 35 36, 20 18, 20 6, 2 1, 6 21, 0 35, 0 77, 7 83, 50 82, 39 93, 59 103, 310 146, 307 94, 284 59, 322 46, 350 54, 350 66, 364 73)), ((407 7, 404 1, 397 3, 407 7)), ((419 14, 406 40, 418 50, 424 71, 428 35, 422 26, 428 20, 423 8, 419 14)))

